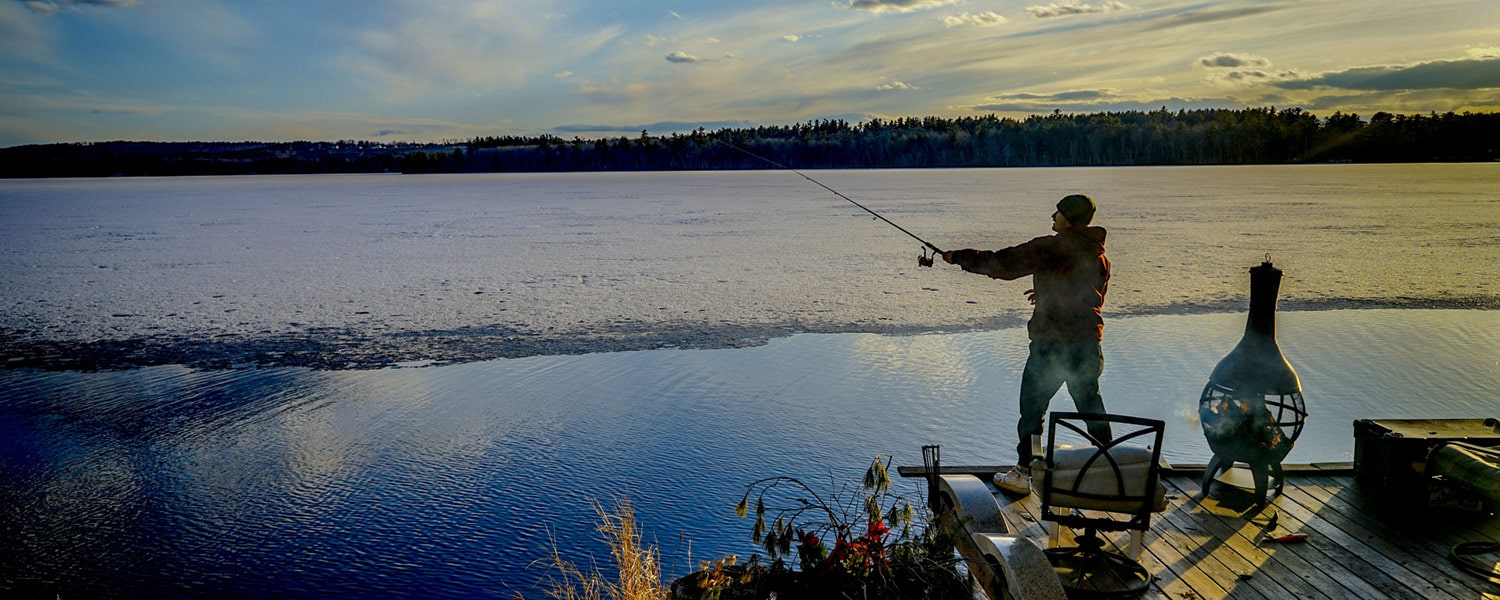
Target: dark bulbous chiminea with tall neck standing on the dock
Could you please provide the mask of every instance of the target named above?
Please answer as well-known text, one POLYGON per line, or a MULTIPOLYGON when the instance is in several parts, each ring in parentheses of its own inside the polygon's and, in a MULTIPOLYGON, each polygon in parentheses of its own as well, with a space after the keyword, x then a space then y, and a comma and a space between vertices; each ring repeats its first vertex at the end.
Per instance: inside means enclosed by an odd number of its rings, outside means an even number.
POLYGON ((1281 489, 1281 460, 1302 435, 1306 406, 1302 382, 1276 345, 1276 292, 1281 270, 1270 256, 1250 270, 1250 316, 1245 336, 1220 360, 1198 398, 1198 420, 1214 458, 1203 472, 1202 495, 1236 462, 1250 466, 1256 498, 1264 504, 1269 478, 1281 489))

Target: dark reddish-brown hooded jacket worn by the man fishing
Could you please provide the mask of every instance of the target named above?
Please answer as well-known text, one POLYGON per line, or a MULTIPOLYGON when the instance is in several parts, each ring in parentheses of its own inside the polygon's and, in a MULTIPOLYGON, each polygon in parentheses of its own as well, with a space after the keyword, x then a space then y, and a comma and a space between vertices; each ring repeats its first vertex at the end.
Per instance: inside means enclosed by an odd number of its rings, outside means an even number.
POLYGON ((996 279, 1032 276, 1030 339, 1083 342, 1104 336, 1100 308, 1110 290, 1104 228, 1076 226, 1004 250, 954 250, 952 262, 996 279))

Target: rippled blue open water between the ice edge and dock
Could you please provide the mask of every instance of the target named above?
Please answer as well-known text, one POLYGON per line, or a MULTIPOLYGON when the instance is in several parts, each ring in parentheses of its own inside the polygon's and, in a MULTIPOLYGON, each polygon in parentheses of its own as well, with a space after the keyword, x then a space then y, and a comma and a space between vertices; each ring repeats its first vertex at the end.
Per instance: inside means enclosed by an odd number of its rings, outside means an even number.
MULTIPOLYGON (((1167 420, 1168 460, 1206 460, 1196 399, 1242 324, 1112 320, 1106 402, 1167 420)), ((1312 412, 1288 460, 1347 460, 1353 418, 1490 416, 1473 392, 1500 387, 1496 332, 1480 310, 1282 312, 1312 412)), ((622 495, 681 573, 752 550, 732 506, 753 478, 852 480, 930 442, 950 464, 1011 460, 1024 346, 1017 328, 392 370, 0 372, 0 584, 536 596, 550 538, 606 555, 592 502, 622 495)))

